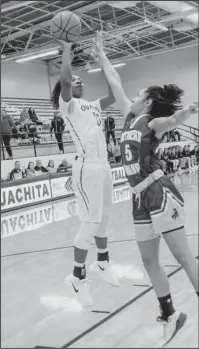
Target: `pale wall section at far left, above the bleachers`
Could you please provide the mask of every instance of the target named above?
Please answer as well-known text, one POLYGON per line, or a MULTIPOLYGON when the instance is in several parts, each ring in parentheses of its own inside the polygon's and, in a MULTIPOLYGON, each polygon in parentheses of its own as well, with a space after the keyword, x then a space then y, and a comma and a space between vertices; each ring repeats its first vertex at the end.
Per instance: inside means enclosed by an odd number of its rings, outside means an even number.
POLYGON ((49 99, 47 65, 41 62, 1 62, 1 96, 49 99))

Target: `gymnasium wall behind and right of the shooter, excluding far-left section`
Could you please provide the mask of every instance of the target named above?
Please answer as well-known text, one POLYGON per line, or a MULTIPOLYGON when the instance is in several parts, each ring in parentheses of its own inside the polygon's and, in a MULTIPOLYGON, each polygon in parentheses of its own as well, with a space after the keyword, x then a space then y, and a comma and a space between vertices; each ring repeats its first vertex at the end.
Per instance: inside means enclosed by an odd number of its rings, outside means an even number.
MULTIPOLYGON (((147 86, 169 83, 178 84, 185 90, 185 104, 198 96, 198 47, 133 60, 117 71, 129 98, 147 86)), ((94 100, 106 93, 107 86, 101 72, 80 71, 79 75, 85 83, 85 99, 94 100)), ((56 80, 56 76, 51 78, 52 85, 56 80)), ((197 116, 191 117, 187 124, 198 127, 197 116)))

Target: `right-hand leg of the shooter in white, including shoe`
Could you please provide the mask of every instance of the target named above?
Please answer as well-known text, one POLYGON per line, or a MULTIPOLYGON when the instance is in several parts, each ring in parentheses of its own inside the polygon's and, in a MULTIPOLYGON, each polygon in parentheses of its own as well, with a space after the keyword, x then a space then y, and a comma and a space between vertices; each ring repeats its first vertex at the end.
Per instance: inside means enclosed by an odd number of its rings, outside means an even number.
POLYGON ((103 169, 103 198, 102 198, 102 220, 95 233, 97 246, 97 261, 91 265, 91 270, 99 274, 105 281, 114 286, 119 286, 119 282, 111 269, 109 263, 108 249, 108 226, 113 205, 113 182, 112 172, 109 164, 104 164, 103 169))

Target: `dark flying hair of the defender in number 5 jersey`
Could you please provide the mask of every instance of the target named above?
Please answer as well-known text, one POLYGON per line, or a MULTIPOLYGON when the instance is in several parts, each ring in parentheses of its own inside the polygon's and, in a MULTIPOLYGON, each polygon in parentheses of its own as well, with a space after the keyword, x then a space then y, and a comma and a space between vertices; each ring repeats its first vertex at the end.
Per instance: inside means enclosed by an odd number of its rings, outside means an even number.
POLYGON ((184 91, 177 85, 150 86, 146 90, 147 99, 152 99, 150 114, 154 118, 171 116, 183 108, 181 97, 184 91))

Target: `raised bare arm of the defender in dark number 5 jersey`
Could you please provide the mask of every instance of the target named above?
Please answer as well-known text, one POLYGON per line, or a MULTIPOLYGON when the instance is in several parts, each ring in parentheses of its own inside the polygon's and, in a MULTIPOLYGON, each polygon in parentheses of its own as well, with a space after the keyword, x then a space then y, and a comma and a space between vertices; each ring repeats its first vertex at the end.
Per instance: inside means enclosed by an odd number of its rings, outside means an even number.
POLYGON ((131 101, 127 98, 123 90, 119 74, 112 67, 110 61, 103 51, 102 35, 100 32, 97 33, 97 39, 95 40, 95 53, 99 58, 100 65, 103 69, 107 82, 111 87, 118 107, 123 115, 126 116, 131 109, 131 101))

